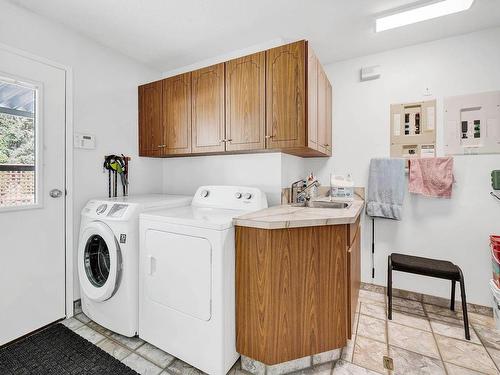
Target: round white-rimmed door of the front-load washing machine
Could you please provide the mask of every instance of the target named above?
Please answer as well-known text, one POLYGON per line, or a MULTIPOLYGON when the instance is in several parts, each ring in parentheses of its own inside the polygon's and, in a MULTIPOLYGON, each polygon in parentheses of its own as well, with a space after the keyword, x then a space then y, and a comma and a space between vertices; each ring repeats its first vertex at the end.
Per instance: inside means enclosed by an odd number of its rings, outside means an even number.
POLYGON ((102 302, 118 287, 121 256, 118 242, 104 223, 89 223, 80 235, 78 277, 87 297, 102 302))

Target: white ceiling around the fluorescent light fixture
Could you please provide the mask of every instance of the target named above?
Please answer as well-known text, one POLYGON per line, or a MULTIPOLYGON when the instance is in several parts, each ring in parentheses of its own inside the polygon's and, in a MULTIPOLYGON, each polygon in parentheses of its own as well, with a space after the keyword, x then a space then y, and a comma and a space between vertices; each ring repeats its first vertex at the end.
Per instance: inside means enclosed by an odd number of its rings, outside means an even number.
POLYGON ((307 39, 321 62, 500 26, 500 1, 376 34, 375 16, 415 0, 9 0, 159 71, 270 40, 307 39))

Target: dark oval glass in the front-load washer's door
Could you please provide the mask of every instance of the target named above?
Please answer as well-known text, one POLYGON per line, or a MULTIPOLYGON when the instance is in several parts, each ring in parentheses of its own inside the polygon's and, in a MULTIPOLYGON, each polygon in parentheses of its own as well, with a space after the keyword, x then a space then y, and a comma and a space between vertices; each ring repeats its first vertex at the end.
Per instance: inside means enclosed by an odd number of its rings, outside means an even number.
POLYGON ((108 280, 111 263, 108 246, 100 235, 94 234, 87 240, 84 263, 90 283, 102 287, 108 280))

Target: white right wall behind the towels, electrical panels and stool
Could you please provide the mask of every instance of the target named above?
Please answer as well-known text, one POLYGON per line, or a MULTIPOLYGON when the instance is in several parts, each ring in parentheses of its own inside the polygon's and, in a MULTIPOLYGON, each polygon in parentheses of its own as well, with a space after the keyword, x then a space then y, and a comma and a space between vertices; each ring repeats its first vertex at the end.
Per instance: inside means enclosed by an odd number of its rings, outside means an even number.
MULTIPOLYGON (((389 156, 391 103, 437 99, 437 145, 443 154, 443 98, 500 90, 500 28, 338 62, 326 67, 333 84, 333 157, 307 160, 325 182, 331 171, 351 173, 366 186, 373 157, 389 156), (359 69, 380 65, 382 76, 359 82, 359 69), (432 96, 424 97, 429 88, 432 96)), ((332 46, 334 48, 334 46, 332 46)), ((457 156, 450 200, 406 195, 401 222, 376 220, 376 284, 386 283, 387 255, 402 252, 448 259, 464 271, 470 302, 489 304, 488 235, 500 232, 500 204, 490 195, 490 172, 500 155, 457 156)), ((364 220, 362 279, 371 281, 371 223, 364 220)), ((449 296, 449 283, 395 275, 395 287, 449 296)))

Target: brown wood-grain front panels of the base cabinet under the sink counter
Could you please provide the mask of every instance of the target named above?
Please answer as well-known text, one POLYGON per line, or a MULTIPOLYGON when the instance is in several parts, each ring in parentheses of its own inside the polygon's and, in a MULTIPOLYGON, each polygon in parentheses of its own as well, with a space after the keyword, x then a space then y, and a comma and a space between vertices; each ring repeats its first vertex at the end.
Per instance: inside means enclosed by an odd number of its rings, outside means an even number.
POLYGON ((345 346, 355 293, 349 244, 348 225, 237 226, 237 351, 273 365, 345 346))

